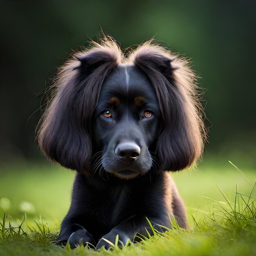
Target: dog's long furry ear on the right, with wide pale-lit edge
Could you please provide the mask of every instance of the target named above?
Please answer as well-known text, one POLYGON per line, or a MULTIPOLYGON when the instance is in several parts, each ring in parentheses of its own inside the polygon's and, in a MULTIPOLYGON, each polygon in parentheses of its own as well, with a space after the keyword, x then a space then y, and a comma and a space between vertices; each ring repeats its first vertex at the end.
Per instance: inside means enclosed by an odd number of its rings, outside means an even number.
POLYGON ((200 157, 206 136, 194 72, 186 60, 150 44, 139 47, 132 61, 146 73, 157 94, 162 113, 157 141, 161 170, 191 166, 200 157))

